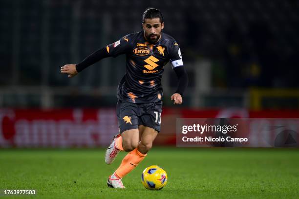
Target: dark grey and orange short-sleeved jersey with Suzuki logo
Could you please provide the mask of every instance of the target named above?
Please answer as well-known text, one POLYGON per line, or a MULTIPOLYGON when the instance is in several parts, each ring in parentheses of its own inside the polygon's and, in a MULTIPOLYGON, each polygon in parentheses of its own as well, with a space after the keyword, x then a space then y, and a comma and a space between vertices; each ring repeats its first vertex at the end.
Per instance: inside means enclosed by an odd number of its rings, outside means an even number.
POLYGON ((161 33, 155 44, 150 44, 143 31, 129 34, 106 46, 107 57, 126 54, 126 74, 118 85, 117 97, 122 101, 147 103, 160 101, 164 66, 183 66, 179 45, 169 35, 161 33))

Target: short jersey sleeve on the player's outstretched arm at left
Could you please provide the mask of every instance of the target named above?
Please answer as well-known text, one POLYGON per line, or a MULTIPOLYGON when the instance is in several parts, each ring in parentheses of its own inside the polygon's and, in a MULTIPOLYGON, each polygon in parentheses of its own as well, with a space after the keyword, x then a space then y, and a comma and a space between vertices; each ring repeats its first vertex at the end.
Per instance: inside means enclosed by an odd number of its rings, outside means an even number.
POLYGON ((129 36, 125 36, 120 40, 106 46, 106 50, 109 56, 112 56, 114 58, 119 55, 126 54, 127 52, 129 52, 130 48, 131 45, 129 36))

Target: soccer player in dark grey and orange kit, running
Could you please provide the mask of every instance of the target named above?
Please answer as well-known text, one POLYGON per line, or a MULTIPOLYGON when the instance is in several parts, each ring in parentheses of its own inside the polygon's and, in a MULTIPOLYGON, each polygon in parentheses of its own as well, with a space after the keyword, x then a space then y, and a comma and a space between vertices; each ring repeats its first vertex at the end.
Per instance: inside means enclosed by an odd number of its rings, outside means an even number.
POLYGON ((147 9, 142 27, 142 31, 128 34, 99 49, 79 64, 61 67, 61 73, 72 78, 99 60, 126 54, 126 74, 117 91, 119 134, 107 148, 105 161, 111 164, 120 151, 129 153, 107 181, 107 185, 113 188, 125 188, 121 179, 147 156, 160 132, 163 66, 171 61, 178 78, 177 90, 171 96, 174 104, 183 102, 182 96, 188 84, 179 45, 171 36, 161 32, 164 21, 160 10, 147 9))

